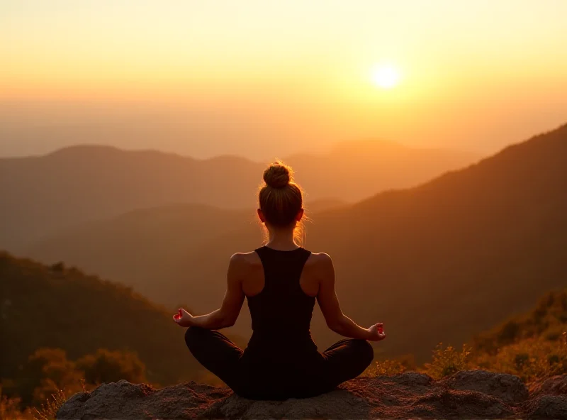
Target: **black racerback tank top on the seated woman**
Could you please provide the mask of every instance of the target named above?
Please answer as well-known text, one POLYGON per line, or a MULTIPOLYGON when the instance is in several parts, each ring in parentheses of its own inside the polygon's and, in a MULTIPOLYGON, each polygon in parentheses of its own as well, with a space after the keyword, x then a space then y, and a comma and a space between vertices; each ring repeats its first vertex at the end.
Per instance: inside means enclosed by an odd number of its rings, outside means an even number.
POLYGON ((278 353, 279 349, 316 352, 310 334, 315 297, 305 294, 299 284, 310 251, 281 251, 264 246, 256 253, 264 267, 264 289, 247 297, 253 333, 246 353, 266 355, 278 353))

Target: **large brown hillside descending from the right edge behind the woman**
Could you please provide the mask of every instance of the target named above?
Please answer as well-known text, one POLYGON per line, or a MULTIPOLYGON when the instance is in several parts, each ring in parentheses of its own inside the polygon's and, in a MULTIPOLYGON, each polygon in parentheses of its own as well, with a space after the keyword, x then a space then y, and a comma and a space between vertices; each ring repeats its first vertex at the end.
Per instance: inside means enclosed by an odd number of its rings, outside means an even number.
MULTIPOLYGON (((347 314, 386 324, 379 348, 425 360, 439 341, 468 341, 565 287, 566 214, 562 126, 420 187, 323 212, 308 224, 306 245, 334 258, 347 314)), ((167 278, 190 275, 172 281, 169 299, 193 296, 198 311, 214 309, 228 258, 257 246, 257 235, 250 226, 215 238, 172 267, 167 278)), ((236 327, 247 331, 246 316, 236 327)), ((313 330, 320 343, 337 338, 320 316, 313 330)))

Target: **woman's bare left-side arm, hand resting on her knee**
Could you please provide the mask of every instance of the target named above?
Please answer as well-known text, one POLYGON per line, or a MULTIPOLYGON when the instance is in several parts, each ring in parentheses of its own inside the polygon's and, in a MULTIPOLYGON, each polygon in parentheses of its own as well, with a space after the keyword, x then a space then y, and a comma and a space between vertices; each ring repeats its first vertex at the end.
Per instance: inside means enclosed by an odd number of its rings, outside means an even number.
POLYGON ((180 309, 181 316, 174 316, 179 326, 199 326, 209 330, 220 330, 233 326, 240 314, 245 294, 242 291, 242 259, 235 254, 230 258, 227 273, 227 289, 220 309, 207 315, 192 316, 184 309, 180 309))

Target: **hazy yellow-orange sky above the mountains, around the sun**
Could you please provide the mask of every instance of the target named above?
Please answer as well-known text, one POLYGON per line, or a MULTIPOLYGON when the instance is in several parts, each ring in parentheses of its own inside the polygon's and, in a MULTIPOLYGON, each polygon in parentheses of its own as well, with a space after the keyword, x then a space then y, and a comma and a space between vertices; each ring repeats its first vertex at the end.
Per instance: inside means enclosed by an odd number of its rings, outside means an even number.
POLYGON ((567 122, 566 19, 566 0, 0 0, 0 155, 492 152, 567 122))

